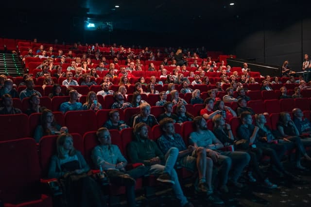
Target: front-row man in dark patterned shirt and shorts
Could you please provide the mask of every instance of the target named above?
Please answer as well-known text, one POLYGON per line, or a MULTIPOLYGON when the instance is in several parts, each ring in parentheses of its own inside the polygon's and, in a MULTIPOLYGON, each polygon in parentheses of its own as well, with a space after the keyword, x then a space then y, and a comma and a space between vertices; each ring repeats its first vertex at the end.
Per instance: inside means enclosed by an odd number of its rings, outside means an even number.
POLYGON ((163 135, 157 139, 157 143, 163 154, 176 147, 179 150, 177 162, 191 171, 196 171, 196 168, 199 171, 199 183, 195 186, 195 190, 207 193, 207 200, 213 204, 224 204, 220 198, 212 194, 213 161, 206 157, 206 149, 204 147, 195 149, 192 145, 187 148, 183 138, 175 133, 174 120, 171 118, 162 119, 160 128, 163 135))

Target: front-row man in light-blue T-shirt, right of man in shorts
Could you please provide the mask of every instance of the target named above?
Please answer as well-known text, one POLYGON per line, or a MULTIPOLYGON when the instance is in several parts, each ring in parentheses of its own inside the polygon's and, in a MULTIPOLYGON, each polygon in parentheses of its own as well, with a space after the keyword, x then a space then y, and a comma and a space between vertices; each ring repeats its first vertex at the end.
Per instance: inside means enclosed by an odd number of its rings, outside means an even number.
POLYGON ((221 167, 220 190, 228 192, 226 184, 230 169, 233 171, 230 178, 231 184, 237 188, 242 188, 243 185, 238 182, 238 179, 250 160, 249 155, 246 152, 219 151, 218 149, 223 148, 224 145, 215 137, 213 132, 207 129, 205 119, 202 116, 197 116, 193 122, 196 130, 190 133, 189 141, 195 148, 207 148, 207 156, 214 161, 214 164, 221 167))

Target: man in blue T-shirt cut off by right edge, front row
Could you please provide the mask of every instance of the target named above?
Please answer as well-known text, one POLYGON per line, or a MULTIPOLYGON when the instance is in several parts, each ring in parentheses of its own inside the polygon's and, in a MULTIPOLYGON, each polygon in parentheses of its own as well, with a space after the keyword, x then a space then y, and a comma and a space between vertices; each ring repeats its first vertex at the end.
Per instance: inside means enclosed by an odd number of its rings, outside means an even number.
POLYGON ((301 111, 301 109, 294 108, 292 112, 294 115, 293 121, 294 121, 296 128, 299 131, 299 135, 309 134, 310 136, 311 134, 310 121, 307 118, 303 117, 303 112, 301 111))

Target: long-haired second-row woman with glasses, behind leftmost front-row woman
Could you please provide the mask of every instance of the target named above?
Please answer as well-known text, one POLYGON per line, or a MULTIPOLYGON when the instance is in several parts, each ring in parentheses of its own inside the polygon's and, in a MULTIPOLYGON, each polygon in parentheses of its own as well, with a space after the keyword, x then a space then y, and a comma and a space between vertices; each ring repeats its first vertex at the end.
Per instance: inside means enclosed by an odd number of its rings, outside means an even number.
POLYGON ((46 135, 54 135, 68 133, 67 127, 61 127, 54 120, 54 115, 51 110, 45 109, 41 114, 41 125, 35 128, 35 142, 39 143, 41 137, 46 135))

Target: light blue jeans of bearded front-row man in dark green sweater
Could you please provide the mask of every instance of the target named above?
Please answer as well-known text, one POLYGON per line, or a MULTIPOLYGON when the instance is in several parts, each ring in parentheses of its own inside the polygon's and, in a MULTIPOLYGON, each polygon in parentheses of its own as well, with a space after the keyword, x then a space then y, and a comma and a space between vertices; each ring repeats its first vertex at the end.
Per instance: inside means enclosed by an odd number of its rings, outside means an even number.
POLYGON ((184 195, 183 191, 181 190, 178 175, 174 169, 175 162, 178 157, 179 150, 176 147, 172 147, 167 151, 165 154, 165 165, 155 164, 152 165, 149 173, 150 174, 161 174, 161 173, 168 173, 171 175, 172 180, 175 182, 173 185, 173 191, 176 194, 176 198, 180 200, 182 206, 184 206, 188 201, 186 196, 184 195))

